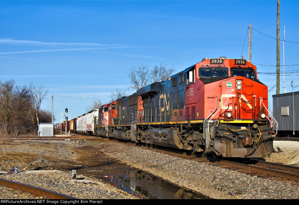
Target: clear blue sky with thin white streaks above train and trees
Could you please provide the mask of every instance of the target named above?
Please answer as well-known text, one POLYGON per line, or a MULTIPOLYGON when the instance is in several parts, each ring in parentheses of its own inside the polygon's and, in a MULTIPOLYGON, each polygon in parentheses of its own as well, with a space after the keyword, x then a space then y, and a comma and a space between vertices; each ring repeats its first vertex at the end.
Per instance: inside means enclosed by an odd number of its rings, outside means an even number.
MULTIPOLYGON (((69 119, 85 113, 93 100, 81 98, 108 101, 111 90, 126 88, 132 65, 164 63, 179 72, 204 57, 248 59, 249 23, 276 37, 277 1, 0 1, 0 7, 0 78, 48 87, 42 108, 51 110, 53 94, 56 123, 65 108, 69 119)), ((286 26, 286 41, 299 42, 298 8, 299 1, 280 1, 280 39, 286 26)), ((285 42, 285 65, 299 64, 298 50, 285 42)), ((283 65, 282 41, 280 53, 283 65)), ((253 30, 251 62, 276 65, 276 40, 253 30)), ((294 74, 285 76, 287 92, 291 81, 299 85, 294 74)), ((276 84, 276 75, 259 79, 276 84)))

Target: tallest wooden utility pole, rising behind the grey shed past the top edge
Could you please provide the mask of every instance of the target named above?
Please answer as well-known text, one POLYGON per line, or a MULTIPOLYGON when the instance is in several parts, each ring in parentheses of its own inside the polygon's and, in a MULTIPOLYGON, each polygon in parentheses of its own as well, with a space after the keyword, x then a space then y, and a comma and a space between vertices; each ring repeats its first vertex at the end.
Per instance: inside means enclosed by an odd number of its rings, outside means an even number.
POLYGON ((280 94, 280 0, 277 0, 277 26, 276 26, 276 94, 280 94))

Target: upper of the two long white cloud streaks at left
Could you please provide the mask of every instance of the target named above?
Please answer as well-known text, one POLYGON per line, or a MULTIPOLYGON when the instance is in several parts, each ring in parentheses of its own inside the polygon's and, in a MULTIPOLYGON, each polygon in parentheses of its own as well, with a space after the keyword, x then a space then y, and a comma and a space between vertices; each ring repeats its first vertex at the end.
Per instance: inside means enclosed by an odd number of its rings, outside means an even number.
POLYGON ((13 45, 36 45, 36 46, 124 46, 123 44, 99 44, 99 43, 58 43, 58 42, 42 42, 42 41, 26 41, 0 39, 0 44, 13 45))

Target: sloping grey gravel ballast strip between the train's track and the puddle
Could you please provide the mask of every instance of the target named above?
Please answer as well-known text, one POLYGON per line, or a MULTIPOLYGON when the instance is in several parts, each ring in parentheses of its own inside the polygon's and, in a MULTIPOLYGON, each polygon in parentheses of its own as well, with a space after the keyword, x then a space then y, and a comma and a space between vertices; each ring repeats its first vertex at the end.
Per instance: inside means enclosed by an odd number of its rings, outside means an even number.
POLYGON ((234 170, 181 159, 138 147, 125 147, 121 144, 109 143, 105 150, 110 156, 133 167, 150 172, 210 198, 299 198, 299 186, 289 182, 262 179, 234 170))

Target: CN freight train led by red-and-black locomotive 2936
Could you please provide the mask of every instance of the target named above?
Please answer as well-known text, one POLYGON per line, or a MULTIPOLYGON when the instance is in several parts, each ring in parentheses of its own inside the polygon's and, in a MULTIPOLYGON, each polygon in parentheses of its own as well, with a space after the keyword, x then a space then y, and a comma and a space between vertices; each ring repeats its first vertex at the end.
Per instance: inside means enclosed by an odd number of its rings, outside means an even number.
POLYGON ((73 130, 213 157, 266 158, 277 133, 268 114, 268 88, 255 65, 203 58, 166 81, 73 119, 73 130))

